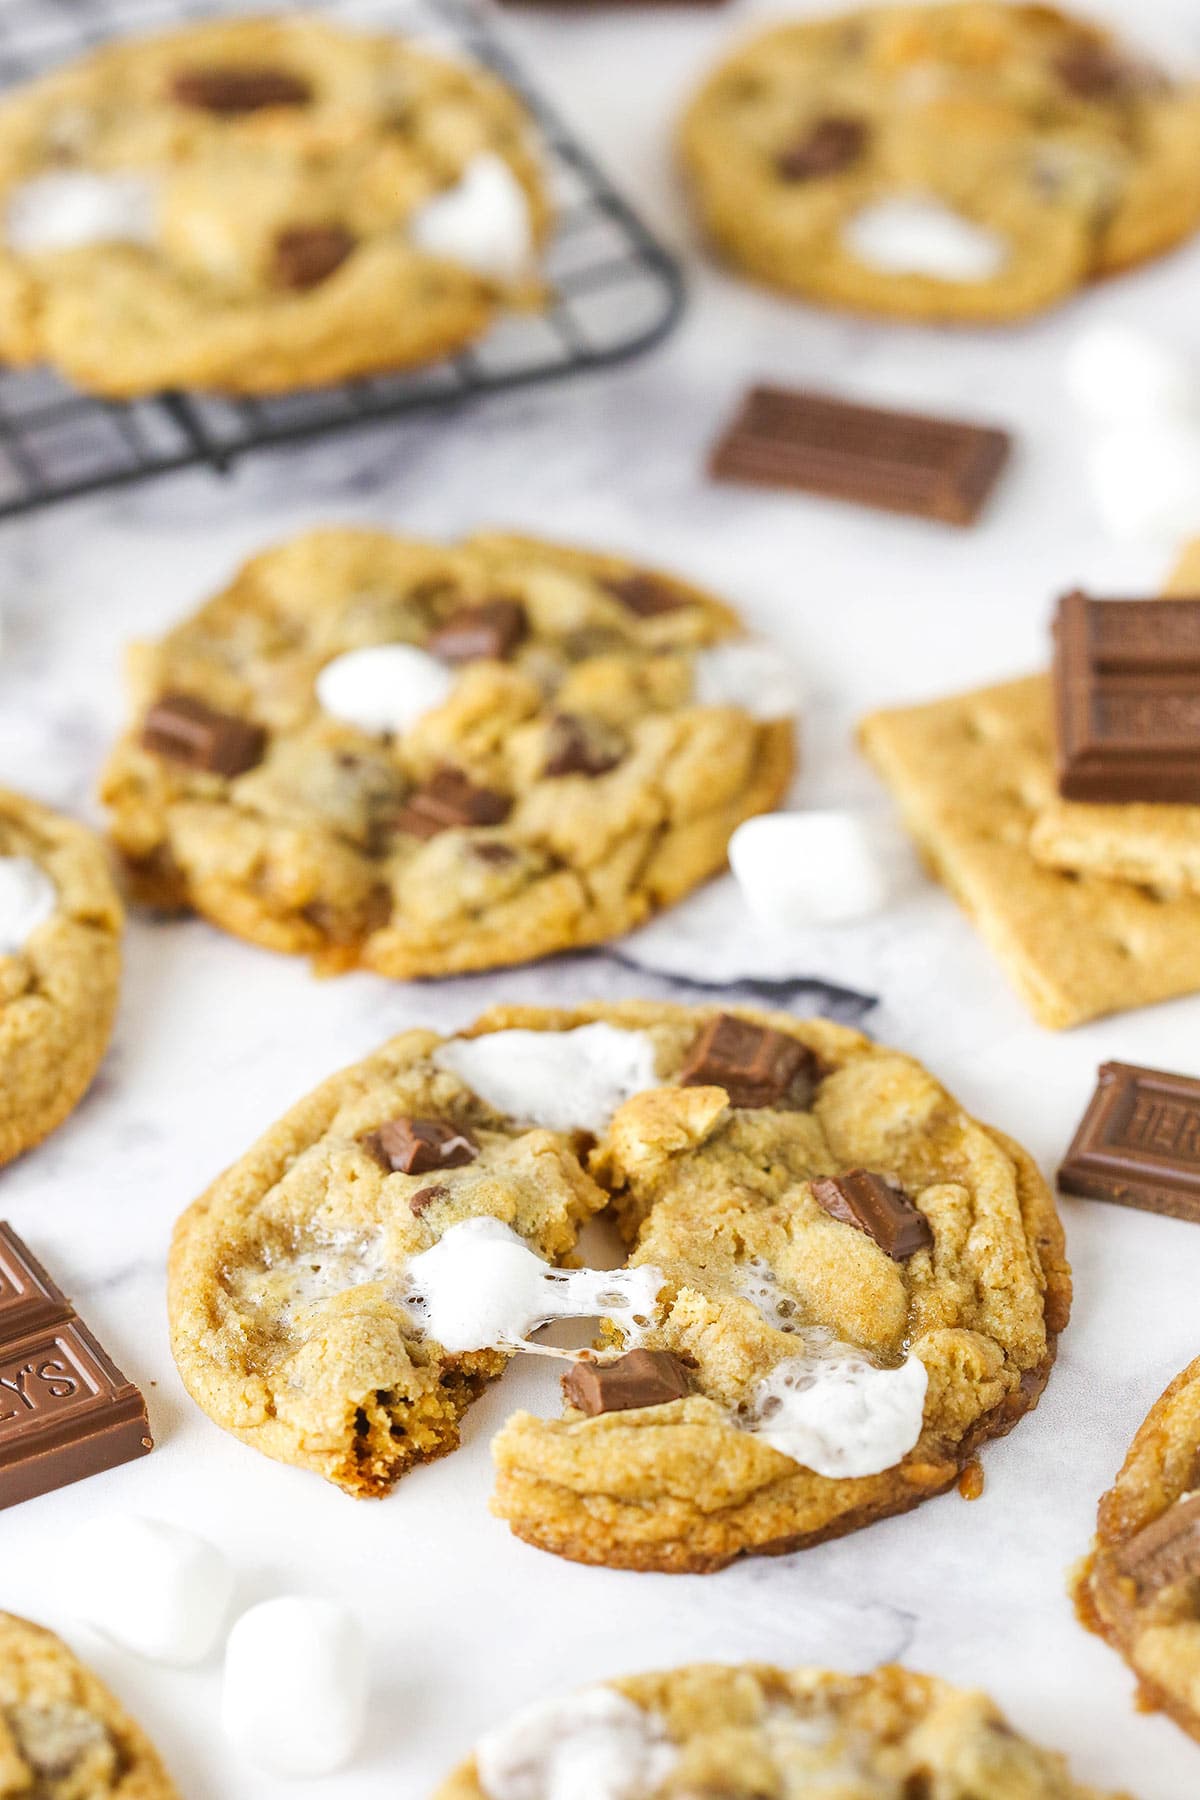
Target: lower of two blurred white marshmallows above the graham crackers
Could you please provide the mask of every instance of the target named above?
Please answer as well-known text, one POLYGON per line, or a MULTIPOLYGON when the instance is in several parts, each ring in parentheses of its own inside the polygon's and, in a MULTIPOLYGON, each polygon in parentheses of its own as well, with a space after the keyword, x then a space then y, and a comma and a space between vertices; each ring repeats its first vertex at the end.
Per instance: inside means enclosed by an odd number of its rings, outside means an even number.
POLYGON ((1114 538, 1173 544, 1200 531, 1200 423, 1112 427, 1090 446, 1088 475, 1114 538))

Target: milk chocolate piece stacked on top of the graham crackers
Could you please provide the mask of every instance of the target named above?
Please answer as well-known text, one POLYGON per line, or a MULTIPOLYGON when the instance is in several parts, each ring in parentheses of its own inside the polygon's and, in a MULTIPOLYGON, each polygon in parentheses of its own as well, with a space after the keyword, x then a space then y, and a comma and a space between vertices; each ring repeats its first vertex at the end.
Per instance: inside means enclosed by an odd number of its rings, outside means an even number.
POLYGON ((1200 803, 1200 599, 1065 594, 1054 727, 1065 799, 1200 803))

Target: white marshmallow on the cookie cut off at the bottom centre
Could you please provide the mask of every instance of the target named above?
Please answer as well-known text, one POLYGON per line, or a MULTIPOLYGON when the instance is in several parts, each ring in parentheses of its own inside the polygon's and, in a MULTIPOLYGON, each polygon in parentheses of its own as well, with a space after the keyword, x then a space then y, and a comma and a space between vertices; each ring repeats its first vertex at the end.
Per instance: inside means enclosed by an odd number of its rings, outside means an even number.
POLYGON ((538 1701, 475 1750, 488 1800, 648 1800, 676 1762, 662 1719, 606 1687, 538 1701))

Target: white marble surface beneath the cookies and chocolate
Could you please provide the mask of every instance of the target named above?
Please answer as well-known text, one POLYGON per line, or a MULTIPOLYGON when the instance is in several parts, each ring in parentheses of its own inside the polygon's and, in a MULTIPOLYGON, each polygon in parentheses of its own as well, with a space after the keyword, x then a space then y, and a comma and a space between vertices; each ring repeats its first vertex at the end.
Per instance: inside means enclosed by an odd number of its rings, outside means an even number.
MULTIPOLYGON (((1108 11, 1200 52, 1193 0, 1114 0, 1108 11)), ((1200 247, 1018 331, 847 322, 745 290, 696 259, 666 164, 667 119, 687 83, 745 23, 741 9, 619 9, 509 25, 689 254, 691 315, 653 360, 459 419, 261 457, 228 482, 185 475, 0 531, 2 781, 92 814, 121 716, 122 641, 166 626, 245 553, 320 518, 430 533, 515 524, 621 545, 727 590, 806 670, 813 707, 799 794, 817 805, 876 796, 849 743, 865 706, 1043 661, 1049 605, 1069 583, 1139 592, 1157 581, 1173 545, 1115 549, 1096 527, 1060 367, 1070 335, 1101 317, 1141 320, 1200 356, 1200 247), (711 490, 703 446, 750 376, 970 409, 1011 423, 1020 454, 986 524, 963 535, 711 490)), ((923 1055, 1045 1168, 1103 1057, 1200 1069, 1200 999, 1070 1037, 1034 1028, 932 887, 885 927, 851 927, 844 945, 844 967, 882 983, 880 1035, 923 1055)), ((829 954, 840 959, 837 943, 829 954)), ((990 1687, 1018 1724, 1069 1750, 1081 1777, 1141 1800, 1198 1793, 1200 1748, 1133 1712, 1124 1667, 1079 1631, 1063 1588, 1133 1427, 1200 1348, 1193 1226, 1065 1202, 1076 1318, 1042 1408, 986 1453, 977 1505, 950 1496, 844 1543, 711 1579, 572 1568, 489 1517, 489 1436, 516 1404, 554 1406, 552 1370, 513 1370, 471 1415, 459 1456, 374 1505, 257 1458, 185 1399, 162 1303, 171 1222, 288 1102, 408 1021, 453 1026, 497 997, 646 988, 655 983, 601 959, 443 986, 320 985, 302 965, 205 925, 135 922, 103 1076, 50 1143, 0 1175, 0 1215, 144 1384, 160 1447, 5 1512, 0 1606, 65 1629, 92 1656, 162 1744, 185 1800, 275 1800, 288 1789, 221 1744, 216 1661, 198 1672, 142 1665, 72 1622, 58 1546, 103 1510, 139 1508, 210 1534, 234 1555, 246 1602, 306 1591, 358 1609, 376 1699, 360 1762, 311 1789, 331 1800, 423 1800, 480 1728, 570 1681, 741 1656, 856 1669, 903 1656, 990 1687)))

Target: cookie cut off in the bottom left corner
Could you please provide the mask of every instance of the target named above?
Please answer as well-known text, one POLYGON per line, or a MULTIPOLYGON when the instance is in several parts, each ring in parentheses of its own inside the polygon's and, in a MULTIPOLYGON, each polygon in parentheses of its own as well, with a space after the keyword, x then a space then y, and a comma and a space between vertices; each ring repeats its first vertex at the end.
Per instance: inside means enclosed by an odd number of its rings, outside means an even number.
POLYGON ((0 1800, 178 1800, 108 1688, 41 1625, 0 1613, 0 1800))

